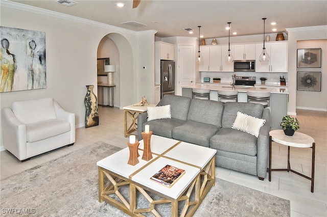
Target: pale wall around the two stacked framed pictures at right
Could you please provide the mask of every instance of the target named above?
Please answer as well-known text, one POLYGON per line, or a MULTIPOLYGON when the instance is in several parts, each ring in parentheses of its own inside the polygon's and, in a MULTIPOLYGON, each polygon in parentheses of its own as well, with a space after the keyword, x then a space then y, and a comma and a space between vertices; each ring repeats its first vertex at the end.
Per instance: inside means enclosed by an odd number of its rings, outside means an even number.
POLYGON ((321 72, 321 91, 296 91, 296 108, 327 112, 327 40, 298 41, 297 49, 321 48, 321 68, 297 68, 297 71, 321 72))

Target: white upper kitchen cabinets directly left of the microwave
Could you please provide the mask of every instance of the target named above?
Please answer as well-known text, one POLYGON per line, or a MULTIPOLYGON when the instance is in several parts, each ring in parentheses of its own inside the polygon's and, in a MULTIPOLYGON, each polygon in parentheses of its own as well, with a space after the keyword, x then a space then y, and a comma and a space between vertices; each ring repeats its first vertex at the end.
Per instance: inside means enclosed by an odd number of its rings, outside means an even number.
MULTIPOLYGON (((233 55, 232 48, 233 46, 230 46, 230 51, 233 55)), ((232 72, 234 70, 232 63, 225 63, 228 45, 201 46, 200 51, 203 62, 199 63, 199 71, 232 72)))

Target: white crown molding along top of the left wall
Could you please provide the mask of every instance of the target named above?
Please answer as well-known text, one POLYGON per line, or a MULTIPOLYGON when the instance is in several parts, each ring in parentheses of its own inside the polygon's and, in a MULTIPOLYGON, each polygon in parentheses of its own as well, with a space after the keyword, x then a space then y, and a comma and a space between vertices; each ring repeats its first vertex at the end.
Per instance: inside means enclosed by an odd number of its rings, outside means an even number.
POLYGON ((10 1, 7 1, 7 0, 0 0, 0 7, 9 7, 9 8, 22 10, 22 11, 27 11, 27 12, 32 12, 32 13, 37 13, 37 14, 41 14, 41 15, 45 15, 45 16, 51 16, 51 17, 66 19, 66 20, 69 20, 69 21, 80 22, 80 23, 93 25, 93 26, 97 26, 97 27, 100 27, 100 28, 104 28, 104 29, 110 29, 113 32, 123 32, 123 33, 133 34, 133 35, 138 34, 138 32, 135 32, 135 31, 132 31, 132 30, 127 30, 127 29, 124 29, 124 28, 120 28, 120 27, 117 27, 117 26, 114 26, 114 25, 109 25, 109 24, 105 24, 105 23, 101 23, 101 22, 97 22, 97 21, 84 19, 84 18, 81 18, 81 17, 67 15, 67 14, 63 14, 63 13, 59 13, 59 12, 55 12, 55 11, 50 11, 50 10, 46 10, 46 9, 41 9, 41 8, 37 8, 37 7, 33 7, 33 6, 28 6, 28 5, 24 5, 24 4, 20 4, 20 3, 16 3, 16 2, 10 2, 10 1))

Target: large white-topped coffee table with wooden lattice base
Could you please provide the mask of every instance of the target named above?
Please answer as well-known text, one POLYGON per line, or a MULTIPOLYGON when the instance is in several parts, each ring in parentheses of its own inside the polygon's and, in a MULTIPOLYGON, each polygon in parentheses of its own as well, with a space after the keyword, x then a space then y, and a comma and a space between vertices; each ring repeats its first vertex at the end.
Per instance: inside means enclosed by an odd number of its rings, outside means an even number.
POLYGON ((155 204, 163 203, 171 204, 171 216, 185 216, 186 213, 192 215, 209 189, 215 185, 216 150, 152 135, 153 158, 145 161, 142 159, 143 140, 139 143, 139 163, 135 166, 127 164, 128 148, 97 162, 99 201, 106 201, 129 215, 152 212, 159 216, 155 204), (168 164, 185 170, 185 174, 170 188, 150 180, 152 175, 168 164), (129 200, 120 192, 122 185, 129 186, 129 200), (160 199, 151 198, 146 191, 160 199), (147 198, 148 208, 136 208, 136 192, 147 198), (190 197, 192 193, 194 198, 190 197), (115 200, 112 195, 120 200, 115 200), (178 201, 185 201, 181 213, 178 213, 178 201))

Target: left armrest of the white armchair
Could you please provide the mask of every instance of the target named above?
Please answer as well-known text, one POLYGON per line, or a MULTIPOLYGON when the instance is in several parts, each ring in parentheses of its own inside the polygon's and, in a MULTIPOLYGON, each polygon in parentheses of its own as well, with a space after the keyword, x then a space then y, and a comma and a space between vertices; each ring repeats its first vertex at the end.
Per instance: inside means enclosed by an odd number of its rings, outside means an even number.
POLYGON ((26 159, 26 125, 16 118, 10 107, 4 107, 1 113, 2 135, 5 148, 19 160, 26 159))

